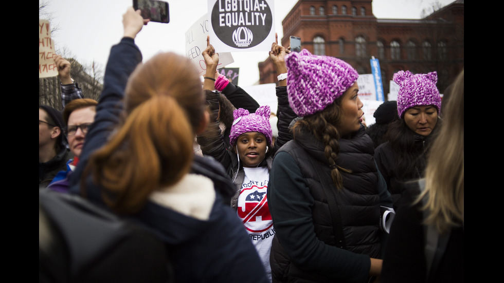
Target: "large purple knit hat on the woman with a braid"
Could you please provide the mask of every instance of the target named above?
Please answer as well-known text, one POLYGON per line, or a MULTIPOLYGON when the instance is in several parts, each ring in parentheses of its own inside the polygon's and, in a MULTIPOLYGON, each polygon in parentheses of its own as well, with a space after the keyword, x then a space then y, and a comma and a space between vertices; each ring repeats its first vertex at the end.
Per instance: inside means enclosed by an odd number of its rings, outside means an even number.
POLYGON ((347 62, 312 55, 308 50, 291 52, 287 65, 287 96, 297 116, 315 114, 334 102, 353 85, 359 74, 347 62))

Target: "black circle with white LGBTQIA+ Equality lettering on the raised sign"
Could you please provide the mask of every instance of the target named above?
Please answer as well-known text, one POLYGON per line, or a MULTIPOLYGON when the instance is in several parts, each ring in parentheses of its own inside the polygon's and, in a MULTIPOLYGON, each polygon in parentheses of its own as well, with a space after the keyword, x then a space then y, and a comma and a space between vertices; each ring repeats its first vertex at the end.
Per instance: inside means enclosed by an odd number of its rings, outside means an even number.
POLYGON ((226 45, 250 48, 271 32, 273 15, 264 0, 217 0, 211 15, 213 31, 226 45))

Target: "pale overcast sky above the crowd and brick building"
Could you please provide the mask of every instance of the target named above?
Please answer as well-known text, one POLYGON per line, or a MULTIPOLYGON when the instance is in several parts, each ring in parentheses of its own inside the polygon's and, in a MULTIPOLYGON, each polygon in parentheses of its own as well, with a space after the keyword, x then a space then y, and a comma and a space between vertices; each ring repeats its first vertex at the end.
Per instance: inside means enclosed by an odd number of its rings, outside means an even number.
MULTIPOLYGON (((185 53, 184 34, 194 22, 207 12, 207 0, 168 0, 170 23, 149 23, 143 27, 135 42, 144 60, 160 51, 185 53)), ((422 9, 433 5, 432 0, 374 0, 373 14, 377 18, 420 18, 422 9)), ((454 0, 439 0, 442 6, 454 0)), ((82 64, 95 62, 104 69, 112 45, 122 37, 122 14, 132 0, 39 0, 52 13, 52 34, 58 52, 67 50, 82 64)), ((275 0, 275 26, 279 39, 283 36, 281 23, 297 0, 275 0)), ((45 17, 42 17, 45 18, 45 17)), ((67 55, 69 55, 67 54, 67 55)), ((239 85, 253 85, 259 80, 257 63, 264 61, 267 52, 233 52, 240 67, 239 85)))

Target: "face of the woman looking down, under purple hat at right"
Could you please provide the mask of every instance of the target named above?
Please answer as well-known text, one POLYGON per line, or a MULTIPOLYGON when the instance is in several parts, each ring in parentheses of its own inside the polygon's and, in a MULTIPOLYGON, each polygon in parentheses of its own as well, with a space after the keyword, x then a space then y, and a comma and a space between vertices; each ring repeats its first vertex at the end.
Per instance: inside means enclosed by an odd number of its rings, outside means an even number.
POLYGON ((438 109, 433 105, 411 107, 404 112, 404 122, 412 131, 426 137, 438 122, 438 109))

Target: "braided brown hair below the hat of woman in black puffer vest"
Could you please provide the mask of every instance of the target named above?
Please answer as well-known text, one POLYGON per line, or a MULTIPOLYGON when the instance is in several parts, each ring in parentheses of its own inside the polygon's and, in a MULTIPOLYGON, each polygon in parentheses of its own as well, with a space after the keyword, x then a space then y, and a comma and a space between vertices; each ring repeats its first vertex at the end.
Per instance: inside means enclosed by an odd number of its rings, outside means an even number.
POLYGON ((343 113, 339 107, 342 97, 337 98, 322 111, 298 120, 293 127, 294 139, 296 139, 296 135, 301 133, 301 128, 305 128, 325 145, 324 155, 331 167, 331 178, 338 189, 343 188, 341 171, 351 172, 336 165, 336 158, 339 153, 338 140, 341 138, 338 126, 343 120, 343 113))

